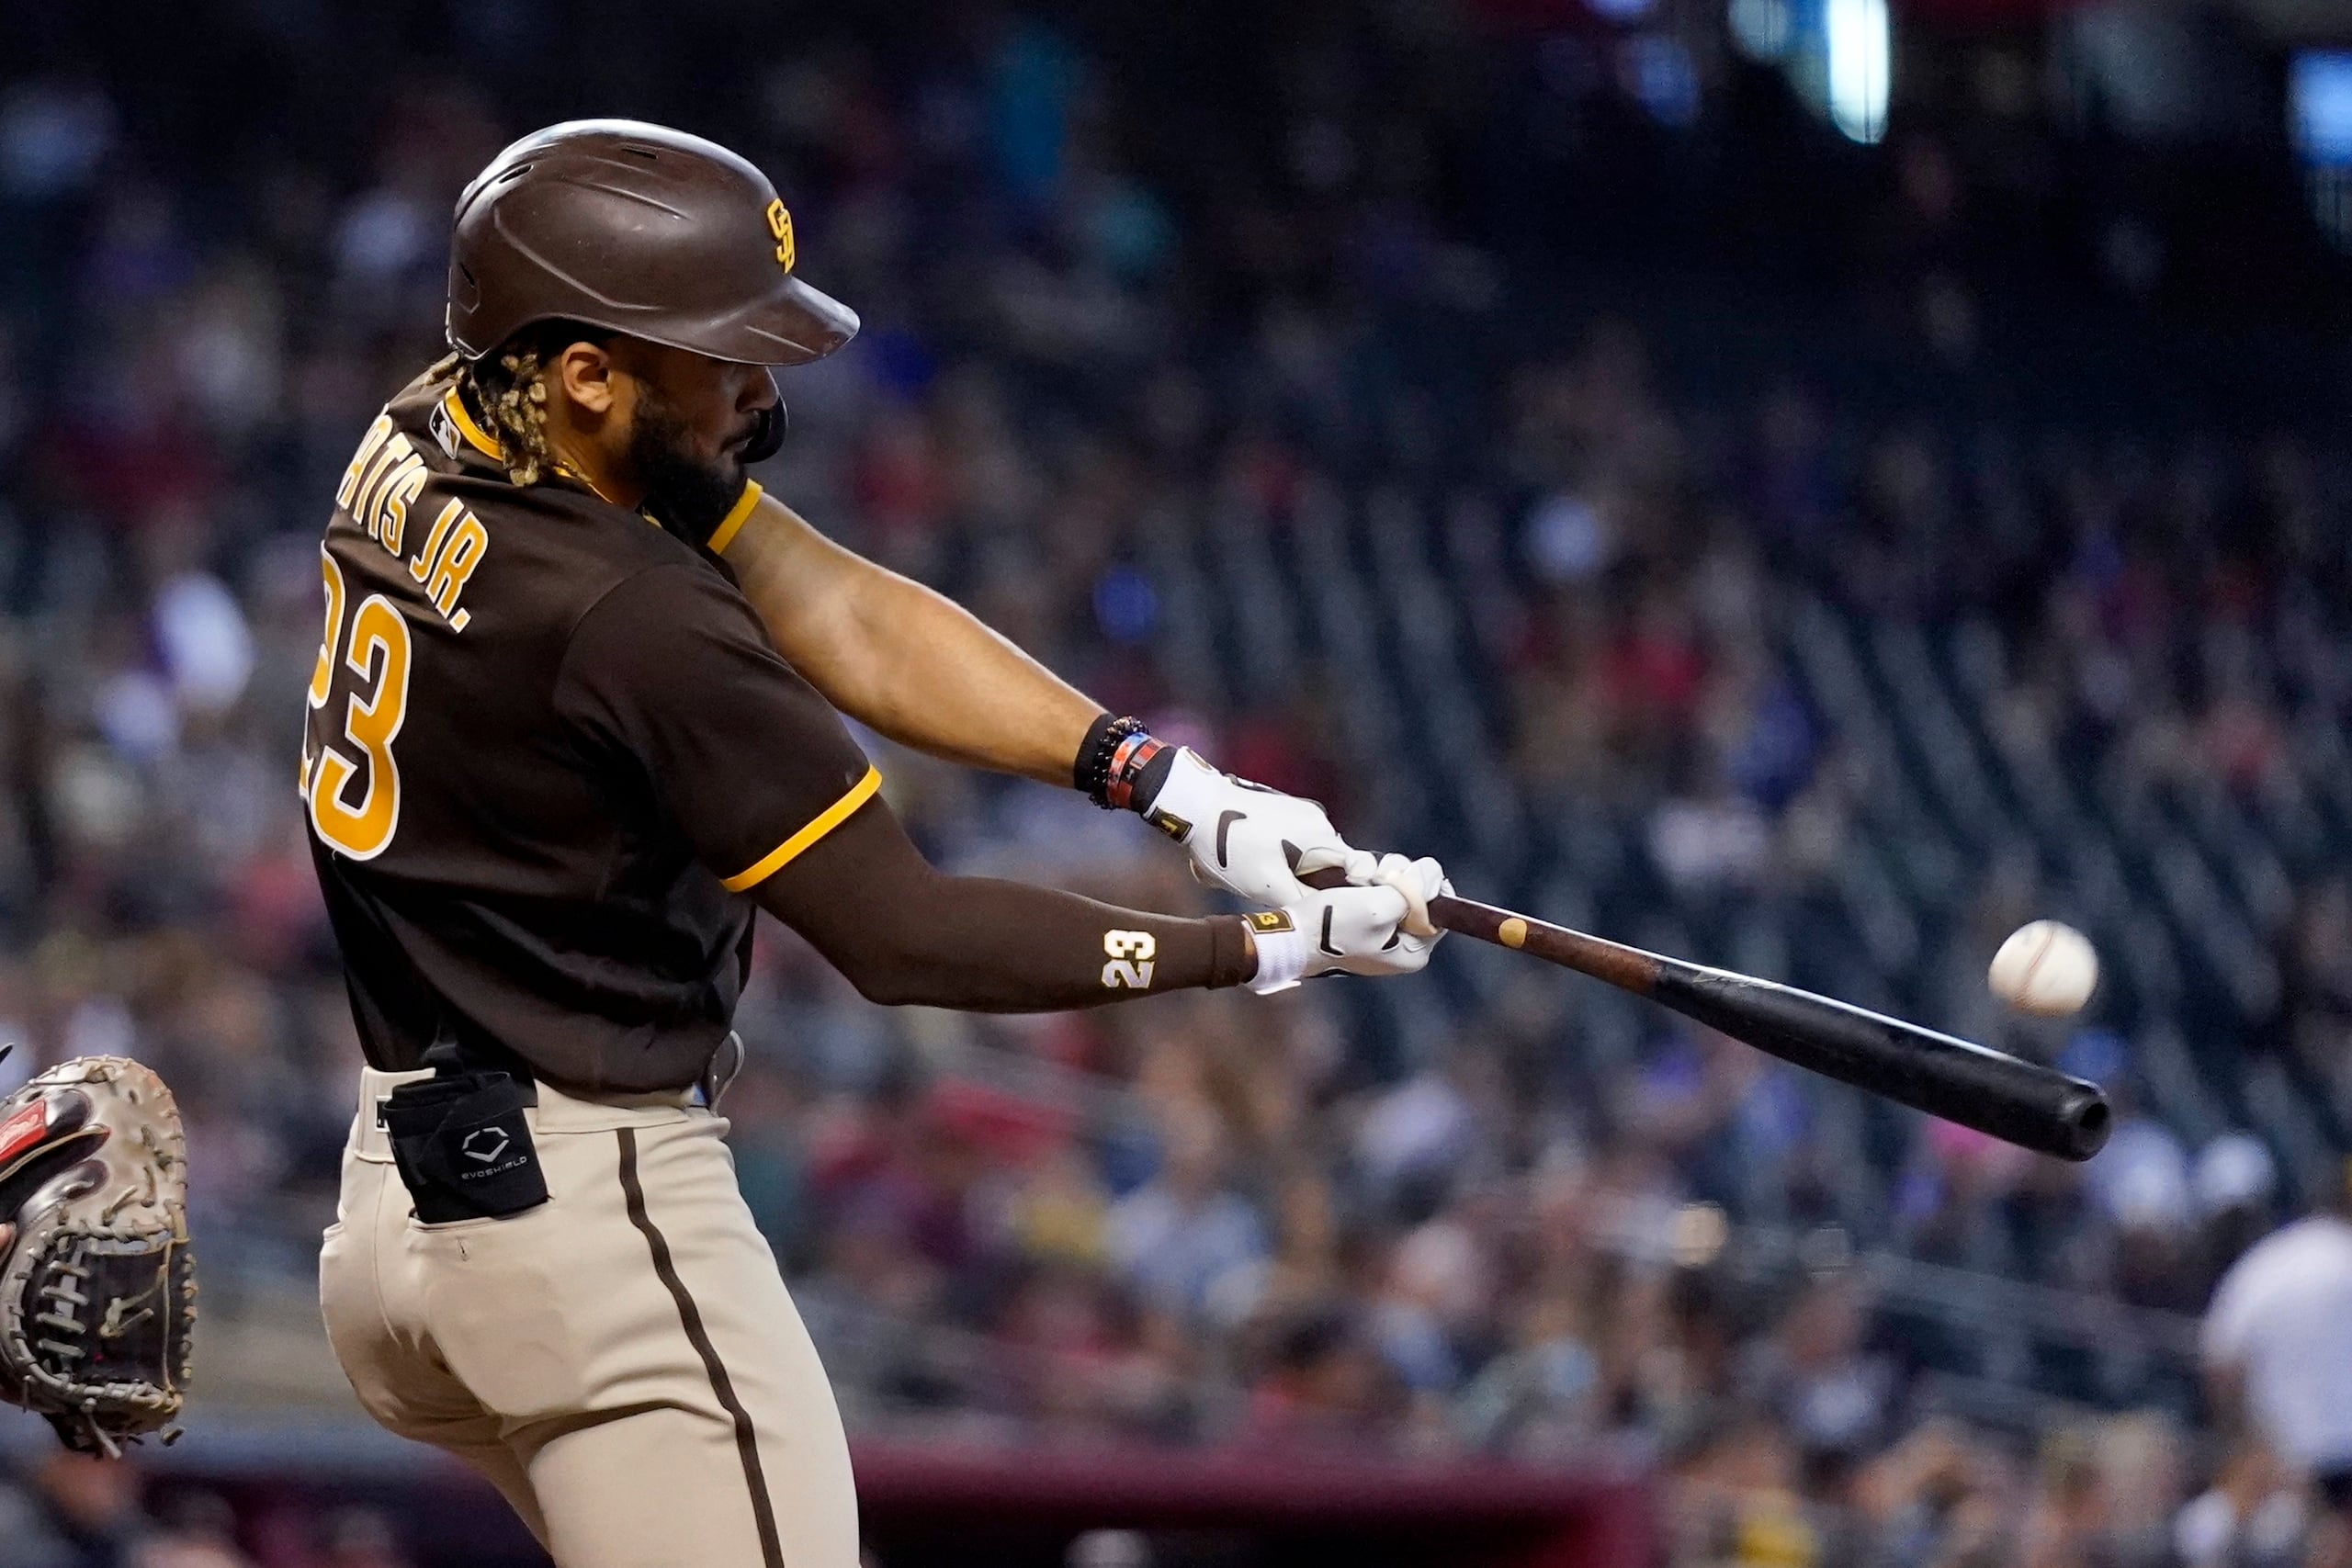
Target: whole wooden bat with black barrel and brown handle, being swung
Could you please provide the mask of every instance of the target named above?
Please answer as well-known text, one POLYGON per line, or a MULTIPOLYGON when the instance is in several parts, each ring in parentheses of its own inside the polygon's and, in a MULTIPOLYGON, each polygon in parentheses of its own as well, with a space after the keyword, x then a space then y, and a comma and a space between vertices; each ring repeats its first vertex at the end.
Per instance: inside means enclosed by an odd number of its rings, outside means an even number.
MULTIPOLYGON (((1329 886, 1336 877, 1317 872, 1305 882, 1329 886)), ((1783 1063, 2039 1154, 2091 1159, 2107 1143, 2107 1095, 2098 1084, 2056 1067, 1792 985, 1668 959, 1451 893, 1430 900, 1430 924, 1606 980, 1783 1063)))

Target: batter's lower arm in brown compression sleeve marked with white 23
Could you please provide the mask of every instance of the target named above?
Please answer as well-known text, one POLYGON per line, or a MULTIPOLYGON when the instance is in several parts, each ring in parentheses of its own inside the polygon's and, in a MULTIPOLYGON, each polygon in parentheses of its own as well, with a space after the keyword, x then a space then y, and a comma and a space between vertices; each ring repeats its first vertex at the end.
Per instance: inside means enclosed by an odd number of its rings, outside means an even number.
POLYGON ((948 877, 873 802, 760 886, 873 1001, 1037 1013, 1240 985, 1256 971, 1244 922, 1122 910, 1058 889, 948 877))

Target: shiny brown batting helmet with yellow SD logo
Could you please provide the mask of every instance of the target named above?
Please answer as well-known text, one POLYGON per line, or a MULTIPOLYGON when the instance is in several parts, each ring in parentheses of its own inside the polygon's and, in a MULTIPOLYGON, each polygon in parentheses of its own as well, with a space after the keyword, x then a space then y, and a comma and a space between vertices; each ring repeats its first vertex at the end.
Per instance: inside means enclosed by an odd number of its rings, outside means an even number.
POLYGON ((750 162, 642 120, 567 120, 492 158, 459 197, 449 346, 477 360, 560 317, 713 360, 809 364, 858 317, 793 261, 793 214, 750 162))

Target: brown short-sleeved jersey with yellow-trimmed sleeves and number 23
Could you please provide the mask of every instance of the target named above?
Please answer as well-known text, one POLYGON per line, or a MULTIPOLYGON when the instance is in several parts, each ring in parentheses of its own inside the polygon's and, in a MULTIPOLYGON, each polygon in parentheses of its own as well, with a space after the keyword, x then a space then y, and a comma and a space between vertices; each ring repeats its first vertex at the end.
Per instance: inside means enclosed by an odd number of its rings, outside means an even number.
POLYGON ((447 1037, 567 1088, 691 1084, 746 889, 880 785, 840 717, 717 555, 510 484, 447 378, 369 425, 320 562, 301 792, 367 1060, 447 1037))

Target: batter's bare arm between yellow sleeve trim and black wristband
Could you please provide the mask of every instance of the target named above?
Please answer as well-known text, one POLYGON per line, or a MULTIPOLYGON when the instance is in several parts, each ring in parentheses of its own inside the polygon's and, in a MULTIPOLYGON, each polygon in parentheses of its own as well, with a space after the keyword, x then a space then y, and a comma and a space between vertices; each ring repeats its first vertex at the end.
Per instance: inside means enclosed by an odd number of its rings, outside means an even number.
POLYGON ((953 599, 844 550, 774 496, 724 555, 776 651, 849 717, 934 757, 1070 783, 1101 705, 953 599))

